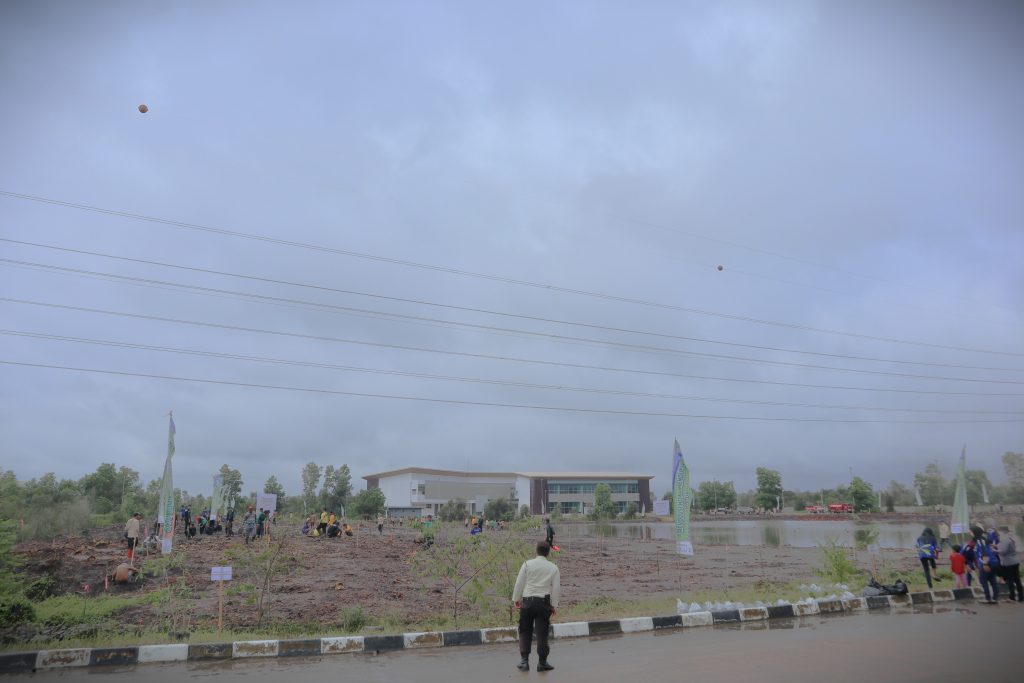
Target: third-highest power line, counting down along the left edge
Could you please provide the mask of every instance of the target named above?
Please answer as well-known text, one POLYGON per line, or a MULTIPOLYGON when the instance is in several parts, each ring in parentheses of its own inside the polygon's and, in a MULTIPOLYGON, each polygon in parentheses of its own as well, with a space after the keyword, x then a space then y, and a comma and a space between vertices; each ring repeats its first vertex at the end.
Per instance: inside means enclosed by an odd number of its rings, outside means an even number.
POLYGON ((49 270, 62 271, 62 272, 72 272, 72 273, 76 273, 76 274, 85 274, 85 275, 91 275, 91 276, 108 278, 108 279, 114 279, 114 280, 127 281, 127 282, 130 282, 130 283, 141 283, 141 284, 144 284, 144 285, 155 285, 155 286, 159 286, 159 287, 172 287, 172 288, 178 288, 178 289, 183 289, 183 290, 193 290, 193 291, 202 292, 202 293, 214 293, 214 294, 228 295, 228 296, 233 296, 233 297, 244 297, 244 298, 247 298, 247 299, 254 299, 254 300, 257 300, 257 301, 264 301, 264 302, 271 302, 271 303, 275 303, 275 304, 284 304, 284 305, 291 305, 291 306, 304 306, 304 307, 306 307, 306 306, 312 306, 312 307, 316 307, 316 308, 321 308, 321 309, 327 309, 327 310, 332 311, 332 312, 351 312, 351 313, 358 313, 358 314, 362 314, 362 315, 368 315, 369 314, 369 315, 376 315, 376 316, 387 316, 387 317, 394 317, 394 318, 399 318, 399 319, 411 319, 411 321, 417 321, 417 322, 421 322, 421 323, 430 323, 430 324, 435 324, 435 325, 464 327, 464 328, 470 328, 470 329, 475 329, 475 330, 483 330, 485 332, 497 332, 497 333, 502 333, 502 334, 515 334, 515 335, 531 336, 531 337, 541 337, 543 339, 554 340, 554 341, 564 341, 564 342, 569 342, 569 343, 601 344, 601 345, 610 346, 610 347, 613 347, 613 348, 626 349, 626 350, 631 350, 631 351, 639 351, 639 352, 643 352, 643 353, 670 353, 670 354, 692 355, 692 356, 699 356, 699 357, 702 357, 702 358, 711 358, 711 359, 715 359, 715 360, 730 360, 730 361, 740 361, 740 362, 760 362, 760 364, 771 365, 771 366, 783 366, 783 367, 787 367, 787 368, 804 368, 804 369, 810 369, 810 370, 823 370, 823 371, 828 371, 828 372, 855 373, 855 374, 858 374, 858 375, 882 375, 882 376, 886 376, 886 377, 901 377, 901 378, 907 378, 907 379, 940 380, 940 381, 946 381, 946 382, 975 382, 975 383, 982 383, 982 384, 1024 384, 1024 382, 1015 381, 1015 380, 989 380, 989 379, 965 378, 965 377, 941 377, 941 376, 935 376, 935 375, 913 375, 913 374, 910 374, 910 373, 894 373, 894 372, 888 372, 888 371, 884 371, 884 370, 864 370, 864 369, 857 369, 857 368, 837 368, 835 366, 819 366, 819 365, 805 364, 805 362, 792 362, 792 361, 787 361, 787 360, 770 360, 770 359, 766 359, 766 358, 751 358, 751 357, 745 357, 745 356, 726 355, 726 354, 721 354, 721 353, 707 353, 707 352, 701 352, 701 351, 686 351, 686 350, 683 350, 683 349, 665 348, 665 347, 659 347, 659 346, 645 346, 645 345, 641 345, 641 344, 629 344, 629 343, 625 343, 625 342, 615 342, 615 341, 608 341, 608 340, 603 340, 603 339, 590 339, 590 338, 587 338, 587 337, 570 337, 570 336, 566 336, 566 335, 555 335, 555 334, 551 334, 551 333, 532 332, 532 331, 528 331, 528 330, 516 330, 516 329, 511 329, 511 328, 499 328, 499 327, 489 326, 489 325, 477 325, 477 324, 473 324, 473 323, 462 323, 462 322, 458 322, 458 321, 444 321, 444 319, 440 319, 440 318, 424 317, 424 316, 420 316, 420 315, 410 315, 410 314, 406 314, 406 313, 391 313, 391 312, 387 312, 387 311, 372 310, 372 309, 366 309, 366 308, 353 308, 351 306, 339 306, 339 305, 336 305, 336 304, 321 303, 321 302, 316 302, 316 301, 304 301, 304 300, 301 300, 301 299, 289 299, 289 298, 284 298, 284 297, 268 296, 268 295, 264 295, 264 294, 253 294, 251 292, 239 292, 239 291, 233 291, 233 290, 223 290, 223 289, 218 289, 218 288, 213 288, 213 287, 202 287, 202 286, 199 286, 199 285, 187 285, 187 284, 184 284, 184 283, 174 283, 174 282, 169 282, 169 281, 153 280, 153 279, 150 279, 150 278, 135 278, 135 276, 132 276, 132 275, 120 275, 120 274, 111 273, 111 272, 99 272, 99 271, 96 271, 96 270, 86 270, 86 269, 83 269, 83 268, 71 268, 71 267, 66 267, 66 266, 49 265, 49 264, 46 264, 46 263, 35 263, 35 262, 31 262, 31 261, 20 261, 20 260, 16 260, 16 259, 0 258, 0 263, 12 263, 12 264, 15 264, 15 265, 20 265, 20 266, 29 266, 29 267, 36 267, 36 268, 45 268, 45 269, 49 269, 49 270))

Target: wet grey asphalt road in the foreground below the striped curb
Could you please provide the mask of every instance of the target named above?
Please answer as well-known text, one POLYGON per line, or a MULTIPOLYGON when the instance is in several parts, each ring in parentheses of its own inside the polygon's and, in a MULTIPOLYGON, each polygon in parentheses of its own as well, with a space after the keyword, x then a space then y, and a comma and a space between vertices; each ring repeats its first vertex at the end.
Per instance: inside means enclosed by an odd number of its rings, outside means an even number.
MULTIPOLYGON (((150 665, 51 671, 34 681, 102 677, 216 683, 453 683, 595 681, 1024 681, 1024 604, 961 604, 912 612, 836 614, 734 628, 552 641, 553 672, 515 669, 514 644, 380 655, 150 665)), ((530 658, 536 666, 536 654, 530 658)))

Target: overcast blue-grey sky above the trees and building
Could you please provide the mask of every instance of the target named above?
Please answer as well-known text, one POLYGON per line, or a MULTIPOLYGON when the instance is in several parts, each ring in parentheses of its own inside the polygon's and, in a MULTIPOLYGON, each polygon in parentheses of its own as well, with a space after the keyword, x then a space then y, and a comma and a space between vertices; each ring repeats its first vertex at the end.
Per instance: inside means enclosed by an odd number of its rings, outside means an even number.
POLYGON ((1010 1, 4 2, 0 190, 241 234, 0 196, 0 467, 1002 481, 1022 68, 1010 1))

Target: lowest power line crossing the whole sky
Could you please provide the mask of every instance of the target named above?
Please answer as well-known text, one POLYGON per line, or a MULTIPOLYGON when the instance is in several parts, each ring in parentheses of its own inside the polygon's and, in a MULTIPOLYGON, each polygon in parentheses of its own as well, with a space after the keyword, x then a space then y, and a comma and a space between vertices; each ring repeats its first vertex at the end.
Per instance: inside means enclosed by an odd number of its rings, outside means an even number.
POLYGON ((276 389, 282 391, 301 391, 306 393, 331 394, 336 396, 353 396, 358 398, 389 398, 393 400, 415 400, 429 403, 443 403, 450 405, 476 405, 485 408, 514 408, 532 411, 552 411, 560 413, 585 413, 596 415, 621 415, 633 417, 655 417, 655 418, 690 418, 696 420, 742 420, 753 422, 821 422, 821 423, 853 423, 853 424, 995 424, 995 423, 1017 423, 1022 420, 844 420, 830 418, 766 418, 756 416, 734 416, 734 415, 693 415, 689 413, 654 413, 648 411, 611 411, 596 408, 565 408, 560 405, 535 405, 529 403, 503 403, 479 400, 459 400, 455 398, 433 398, 428 396, 403 396, 398 394, 365 393, 359 391, 339 391, 336 389, 317 389, 312 387, 293 387, 278 384, 257 384, 254 382, 232 382, 228 380, 212 380, 196 377, 177 377, 173 375, 155 375, 150 373, 131 373, 119 370, 99 370, 95 368, 75 368, 71 366, 56 366, 41 362, 22 362, 17 360, 0 359, 0 364, 6 366, 17 366, 23 368, 39 368, 49 370, 62 370, 68 372, 95 373, 101 375, 116 375, 120 377, 138 377, 143 379, 169 380, 174 382, 195 382, 203 384, 217 384, 222 386, 236 386, 254 389, 276 389))

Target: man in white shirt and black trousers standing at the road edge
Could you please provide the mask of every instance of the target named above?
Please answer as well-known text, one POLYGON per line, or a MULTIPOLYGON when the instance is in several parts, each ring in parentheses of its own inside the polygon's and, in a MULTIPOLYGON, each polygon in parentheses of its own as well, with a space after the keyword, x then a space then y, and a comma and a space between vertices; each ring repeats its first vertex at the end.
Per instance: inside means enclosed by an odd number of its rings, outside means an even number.
POLYGON ((548 627, 552 614, 558 612, 558 594, 560 574, 558 565, 548 560, 551 546, 547 541, 537 544, 537 557, 526 560, 519 567, 519 575, 515 579, 515 589, 512 591, 512 601, 519 610, 519 656, 522 659, 516 665, 519 671, 529 671, 529 649, 537 634, 538 671, 554 669, 548 664, 548 627))

